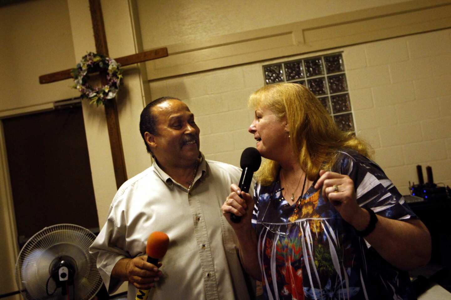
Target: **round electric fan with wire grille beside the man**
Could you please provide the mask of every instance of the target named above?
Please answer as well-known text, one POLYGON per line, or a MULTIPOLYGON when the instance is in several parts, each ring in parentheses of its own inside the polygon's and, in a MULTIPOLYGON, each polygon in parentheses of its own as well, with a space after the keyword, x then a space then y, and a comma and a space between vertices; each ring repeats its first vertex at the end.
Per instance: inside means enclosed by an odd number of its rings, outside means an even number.
POLYGON ((89 300, 101 288, 88 248, 96 236, 74 224, 57 224, 33 235, 16 262, 16 281, 25 300, 89 300))

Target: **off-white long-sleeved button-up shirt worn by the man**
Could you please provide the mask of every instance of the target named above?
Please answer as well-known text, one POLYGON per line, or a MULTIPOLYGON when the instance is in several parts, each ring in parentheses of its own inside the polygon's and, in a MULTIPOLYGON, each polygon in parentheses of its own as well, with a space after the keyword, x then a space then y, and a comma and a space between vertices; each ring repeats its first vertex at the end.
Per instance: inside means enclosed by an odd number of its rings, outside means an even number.
MULTIPOLYGON (((221 212, 230 184, 240 176, 235 166, 202 159, 190 191, 156 162, 127 180, 90 247, 108 291, 122 284, 111 278, 117 261, 145 254, 150 233, 162 231, 170 239, 161 260, 163 278, 148 299, 249 299, 235 233, 221 212)), ((135 296, 129 283, 128 300, 135 296)))

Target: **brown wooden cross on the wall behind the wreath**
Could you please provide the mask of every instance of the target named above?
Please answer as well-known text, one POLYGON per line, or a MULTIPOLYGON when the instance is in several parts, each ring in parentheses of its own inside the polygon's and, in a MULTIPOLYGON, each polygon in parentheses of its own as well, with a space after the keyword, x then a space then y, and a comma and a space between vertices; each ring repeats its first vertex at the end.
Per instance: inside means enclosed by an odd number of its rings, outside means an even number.
MULTIPOLYGON (((103 24, 102 8, 100 0, 89 0, 89 9, 91 11, 92 29, 94 31, 94 40, 96 41, 97 54, 103 54, 108 57, 108 45, 106 44, 105 26, 103 24)), ((121 66, 128 66, 134 63, 142 63, 147 60, 168 56, 167 48, 154 49, 138 54, 132 54, 115 58, 121 66)), ((72 78, 70 74, 72 69, 60 72, 50 73, 39 76, 39 83, 45 84, 64 79, 72 78)), ((101 74, 102 85, 106 85, 106 76, 101 74)), ((111 156, 113 157, 113 166, 116 178, 116 186, 119 188, 127 180, 125 170, 124 150, 120 137, 119 118, 117 114, 116 100, 110 99, 105 103, 106 123, 110 137, 111 156)))

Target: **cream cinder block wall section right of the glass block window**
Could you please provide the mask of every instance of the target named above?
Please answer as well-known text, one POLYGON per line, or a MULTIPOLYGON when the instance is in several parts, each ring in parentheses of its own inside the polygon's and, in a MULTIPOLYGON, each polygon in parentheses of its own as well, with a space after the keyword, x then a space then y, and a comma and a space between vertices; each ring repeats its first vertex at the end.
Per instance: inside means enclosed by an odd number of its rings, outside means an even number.
POLYGON ((435 183, 451 185, 451 30, 349 47, 343 56, 357 133, 400 192, 418 183, 418 164, 425 179, 431 166, 435 183))

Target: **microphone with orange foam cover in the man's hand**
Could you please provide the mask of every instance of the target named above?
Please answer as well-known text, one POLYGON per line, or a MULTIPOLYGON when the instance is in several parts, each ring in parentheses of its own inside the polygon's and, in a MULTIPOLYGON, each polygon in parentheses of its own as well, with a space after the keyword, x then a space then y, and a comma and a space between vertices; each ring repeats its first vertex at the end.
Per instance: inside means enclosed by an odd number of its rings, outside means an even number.
MULTIPOLYGON (((158 260, 165 256, 169 246, 169 237, 166 233, 155 231, 147 239, 146 254, 147 262, 154 264, 158 268, 158 260)), ((135 300, 146 300, 149 290, 139 289, 135 300)))

